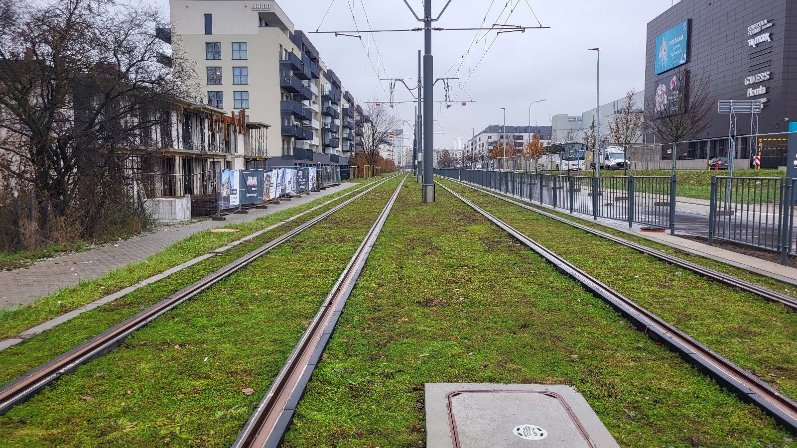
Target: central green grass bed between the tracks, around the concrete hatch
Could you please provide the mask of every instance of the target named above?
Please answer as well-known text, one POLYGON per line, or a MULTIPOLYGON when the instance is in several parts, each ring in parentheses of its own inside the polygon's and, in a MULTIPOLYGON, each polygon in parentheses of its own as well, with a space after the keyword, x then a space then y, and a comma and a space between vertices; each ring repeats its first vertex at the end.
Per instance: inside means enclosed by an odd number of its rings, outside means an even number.
POLYGON ((446 191, 419 197, 396 203, 284 446, 424 446, 437 382, 571 384, 621 446, 786 445, 763 411, 446 191))

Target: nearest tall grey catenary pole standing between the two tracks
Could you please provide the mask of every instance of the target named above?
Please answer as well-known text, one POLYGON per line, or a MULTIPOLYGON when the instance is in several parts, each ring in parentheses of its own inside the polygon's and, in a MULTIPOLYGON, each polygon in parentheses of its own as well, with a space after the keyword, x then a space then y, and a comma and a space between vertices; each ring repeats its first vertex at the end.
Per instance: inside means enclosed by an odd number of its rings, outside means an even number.
POLYGON ((423 10, 423 202, 434 202, 434 58, 432 57, 432 0, 423 10))

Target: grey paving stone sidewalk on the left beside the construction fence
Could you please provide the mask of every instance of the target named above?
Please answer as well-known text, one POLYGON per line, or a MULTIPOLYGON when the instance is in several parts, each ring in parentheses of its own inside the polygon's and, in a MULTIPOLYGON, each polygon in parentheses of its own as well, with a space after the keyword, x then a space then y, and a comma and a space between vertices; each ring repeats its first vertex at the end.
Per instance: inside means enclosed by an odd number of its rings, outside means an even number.
POLYGON ((95 250, 50 258, 24 269, 0 272, 0 308, 26 304, 65 286, 77 285, 80 281, 100 277, 113 269, 143 261, 175 242, 202 230, 253 221, 261 216, 311 202, 355 185, 354 183, 342 183, 338 187, 330 187, 309 196, 305 195, 301 198, 294 198, 292 201, 270 205, 267 209, 249 210, 249 214, 229 214, 226 221, 210 221, 208 219, 183 226, 165 226, 155 233, 141 235, 95 250))

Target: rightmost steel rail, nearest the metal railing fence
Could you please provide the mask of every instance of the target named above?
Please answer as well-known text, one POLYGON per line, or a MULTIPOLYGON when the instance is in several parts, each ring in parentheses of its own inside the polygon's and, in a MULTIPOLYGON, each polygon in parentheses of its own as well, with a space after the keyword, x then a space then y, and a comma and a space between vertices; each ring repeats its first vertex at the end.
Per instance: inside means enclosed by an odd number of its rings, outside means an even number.
POLYGON ((614 236, 612 234, 607 234, 606 232, 602 232, 601 230, 596 230, 596 229, 594 229, 592 227, 584 226, 583 224, 580 224, 579 222, 574 222, 574 221, 571 221, 571 220, 569 220, 567 218, 562 218, 560 216, 557 216, 556 214, 552 214, 552 213, 548 213, 547 211, 540 210, 540 209, 536 208, 535 206, 531 206, 531 205, 528 205, 528 204, 526 204, 524 202, 517 201, 515 198, 512 198, 511 196, 497 194, 497 193, 494 193, 493 191, 489 191, 488 189, 485 189, 483 187, 475 187, 473 185, 470 185, 469 183, 465 183, 465 182, 457 180, 457 179, 451 179, 451 178, 446 178, 446 179, 451 180, 452 182, 457 183, 457 184, 459 184, 459 185, 461 185, 463 187, 469 187, 469 188, 471 188, 471 189, 473 189, 475 191, 480 191, 481 193, 484 193, 485 195, 490 195, 490 196, 493 196, 495 198, 499 198, 499 199, 504 200, 506 202, 512 203, 512 204, 514 204, 516 206, 523 207, 526 210, 531 210, 531 211, 533 211, 533 212, 535 212, 537 214, 541 214, 541 215, 545 216, 546 218, 555 219, 558 222, 563 222, 564 224, 568 224, 568 225, 573 226, 573 227, 575 227, 575 228, 577 228, 579 230, 583 230, 585 232, 588 232, 590 234, 594 234, 594 235, 599 236, 601 238, 606 238, 607 240, 610 240, 611 242, 616 242, 618 244, 621 244, 622 246, 630 247, 631 249, 638 250, 639 252, 642 252, 642 253, 646 253, 647 255, 650 255, 651 257, 655 257, 655 258, 658 258, 661 261, 665 261, 667 263, 670 263, 670 264, 673 264, 673 265, 677 265, 677 266, 679 266, 679 267, 681 267, 683 269, 689 270, 689 271, 691 271, 693 273, 697 273, 697 275, 709 278, 710 280, 713 280, 713 281, 717 281, 717 282, 719 282, 719 283, 721 283, 723 285, 731 286, 732 288, 738 288, 738 289, 741 289, 741 290, 746 291, 748 293, 756 294, 756 296, 762 297, 765 301, 771 301, 771 302, 779 303, 780 305, 783 305, 783 306, 785 306, 787 308, 791 308, 792 310, 797 311, 797 299, 795 299, 795 297, 787 296, 786 294, 779 293, 777 291, 773 291, 772 289, 765 288, 764 286, 761 286, 761 285, 756 285, 755 283, 752 283, 750 281, 745 281, 745 280, 742 280, 742 279, 740 279, 738 277, 733 277, 730 274, 722 273, 720 271, 707 268, 704 265, 697 264, 697 263, 695 263, 693 261, 687 261, 687 260, 684 260, 683 258, 679 258, 679 257, 676 257, 674 255, 670 255, 669 253, 664 253, 664 252, 662 252, 660 250, 655 250, 653 248, 650 248, 650 247, 647 247, 647 246, 643 246, 642 244, 638 244, 636 242, 630 242, 630 241, 626 240, 625 238, 620 238, 618 236, 614 236))

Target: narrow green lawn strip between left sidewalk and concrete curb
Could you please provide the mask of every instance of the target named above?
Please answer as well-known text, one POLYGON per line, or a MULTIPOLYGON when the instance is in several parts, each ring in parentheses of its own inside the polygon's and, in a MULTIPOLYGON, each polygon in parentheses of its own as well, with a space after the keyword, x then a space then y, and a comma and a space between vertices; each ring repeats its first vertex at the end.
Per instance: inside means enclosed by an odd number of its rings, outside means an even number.
MULTIPOLYGON (((368 179, 368 183, 374 182, 375 179, 368 179)), ((352 187, 354 188, 354 187, 352 187)), ((199 232, 198 234, 191 235, 182 241, 176 242, 162 252, 156 253, 148 257, 144 261, 133 263, 125 266, 124 268, 114 269, 103 276, 93 279, 81 281, 79 285, 69 288, 60 289, 55 293, 49 294, 46 297, 41 297, 26 305, 19 305, 14 308, 0 308, 0 339, 5 339, 10 336, 17 335, 28 328, 37 324, 41 324, 55 316, 60 316, 65 312, 72 311, 73 309, 80 308, 92 301, 96 301, 107 294, 119 291, 130 285, 142 281, 156 273, 163 272, 166 269, 176 265, 183 264, 186 261, 198 257, 211 250, 218 249, 225 246, 230 242, 234 242, 248 234, 252 234, 257 230, 265 229, 265 227, 272 226, 286 218, 290 218, 304 210, 308 210, 314 206, 318 206, 332 198, 337 198, 340 195, 347 194, 351 188, 344 191, 336 192, 335 194, 317 198, 312 202, 308 202, 302 206, 291 207, 287 210, 282 210, 275 214, 257 218, 251 222, 235 224, 226 226, 227 228, 235 228, 239 232, 230 233, 213 233, 209 231, 199 232)), ((324 210, 336 206, 335 203, 330 204, 324 210)), ((324 210, 316 210, 312 214, 305 215, 302 220, 291 222, 289 225, 281 226, 275 231, 284 233, 285 231, 296 226, 300 222, 304 222, 312 216, 322 213, 324 210)), ((267 235, 264 235, 267 236, 267 235)), ((260 239, 259 241, 269 241, 260 239)), ((252 242, 247 243, 245 246, 253 248, 252 242)), ((241 246, 239 246, 241 247, 241 246)), ((238 253, 238 252, 236 252, 238 253)), ((241 253, 242 254, 242 253, 241 253)), ((208 263, 218 265, 220 257, 213 257, 210 261, 204 261, 200 265, 208 263)), ((228 258, 224 258, 227 260, 228 258)), ((218 266, 217 268, 218 269, 218 266)), ((186 269, 181 273, 173 274, 171 277, 179 277, 186 272, 205 272, 202 268, 196 266, 186 269)), ((210 272, 210 271, 208 271, 210 272)), ((198 278, 198 277, 197 277, 198 278)), ((154 302, 153 302, 154 303, 154 302)))

